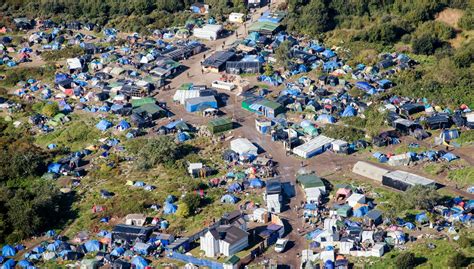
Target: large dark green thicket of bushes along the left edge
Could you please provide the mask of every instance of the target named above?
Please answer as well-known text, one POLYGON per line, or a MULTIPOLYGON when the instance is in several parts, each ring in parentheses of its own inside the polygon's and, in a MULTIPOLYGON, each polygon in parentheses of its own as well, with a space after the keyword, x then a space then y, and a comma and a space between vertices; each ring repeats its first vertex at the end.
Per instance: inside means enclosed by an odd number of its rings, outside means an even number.
MULTIPOLYGON (((15 132, 16 131, 16 132, 15 132)), ((65 197, 39 176, 51 156, 0 122, 0 243, 18 242, 68 215, 65 197)))

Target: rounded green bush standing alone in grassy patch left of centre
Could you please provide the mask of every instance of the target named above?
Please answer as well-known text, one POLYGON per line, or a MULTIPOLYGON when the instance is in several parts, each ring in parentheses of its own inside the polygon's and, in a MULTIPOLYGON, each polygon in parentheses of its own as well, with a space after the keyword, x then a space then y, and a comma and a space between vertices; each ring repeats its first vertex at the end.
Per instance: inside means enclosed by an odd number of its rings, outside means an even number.
POLYGON ((138 167, 148 170, 157 164, 169 164, 178 157, 178 146, 169 136, 158 136, 144 141, 138 152, 138 167))

